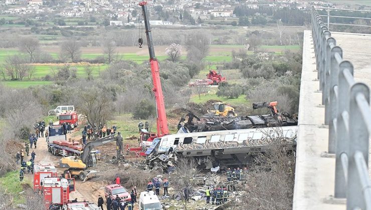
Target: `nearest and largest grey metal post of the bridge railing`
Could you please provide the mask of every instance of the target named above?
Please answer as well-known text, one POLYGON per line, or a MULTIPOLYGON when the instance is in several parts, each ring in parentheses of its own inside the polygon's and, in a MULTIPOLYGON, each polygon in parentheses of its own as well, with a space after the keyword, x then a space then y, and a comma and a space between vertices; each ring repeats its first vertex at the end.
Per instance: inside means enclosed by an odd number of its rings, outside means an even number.
MULTIPOLYGON (((355 83, 350 88, 349 103, 349 152, 348 152, 348 180, 346 191, 346 208, 347 209, 365 209, 363 201, 363 188, 358 176, 354 154, 361 151, 368 165, 368 129, 363 120, 362 113, 357 105, 356 96, 363 94, 367 104, 369 104, 369 88, 364 83, 355 83), (351 181, 350 181, 351 180, 351 181)), ((363 107, 363 108, 369 108, 363 107)))

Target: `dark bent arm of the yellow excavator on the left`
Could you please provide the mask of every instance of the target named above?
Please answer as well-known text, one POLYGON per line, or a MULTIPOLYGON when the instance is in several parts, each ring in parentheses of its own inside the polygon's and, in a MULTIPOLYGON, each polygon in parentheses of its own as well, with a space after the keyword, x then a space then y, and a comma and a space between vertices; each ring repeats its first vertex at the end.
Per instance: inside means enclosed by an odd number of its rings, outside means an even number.
POLYGON ((116 133, 112 134, 112 135, 107 135, 106 137, 103 137, 103 138, 99 138, 98 140, 95 140, 95 141, 88 142, 85 145, 83 153, 81 155, 81 161, 85 164, 88 162, 90 152, 94 147, 100 146, 100 145, 103 145, 103 144, 106 144, 106 143, 114 142, 114 141, 116 141, 117 158, 120 158, 120 154, 121 154, 121 151, 122 151, 122 148, 123 148, 122 147, 123 146, 122 145, 122 136, 121 136, 120 132, 117 133, 117 136, 115 136, 115 135, 116 135, 116 133))

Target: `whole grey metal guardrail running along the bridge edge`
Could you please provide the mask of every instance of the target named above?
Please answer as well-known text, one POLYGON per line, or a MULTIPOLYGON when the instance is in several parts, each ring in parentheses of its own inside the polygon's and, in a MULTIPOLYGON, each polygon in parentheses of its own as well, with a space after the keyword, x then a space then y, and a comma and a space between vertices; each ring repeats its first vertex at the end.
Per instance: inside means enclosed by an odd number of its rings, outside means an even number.
POLYGON ((336 157, 334 196, 346 198, 347 209, 371 209, 369 87, 354 81, 352 63, 343 60, 342 49, 314 7, 312 37, 325 124, 329 125, 328 152, 336 157))

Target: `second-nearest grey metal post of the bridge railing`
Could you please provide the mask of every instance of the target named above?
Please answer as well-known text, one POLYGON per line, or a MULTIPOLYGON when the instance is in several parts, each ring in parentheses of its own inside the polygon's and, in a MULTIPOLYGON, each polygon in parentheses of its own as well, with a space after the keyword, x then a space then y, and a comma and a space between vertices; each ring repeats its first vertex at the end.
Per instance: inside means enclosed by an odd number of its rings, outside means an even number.
MULTIPOLYGON (((332 48, 332 54, 335 51, 342 55, 341 48, 335 46, 332 48)), ((340 65, 337 64, 335 58, 331 59, 331 71, 334 69, 332 66, 338 68, 338 99, 337 99, 337 117, 336 117, 336 160, 335 160, 335 193, 336 198, 346 197, 346 179, 344 177, 344 168, 341 164, 341 153, 348 154, 349 148, 349 83, 346 81, 346 70, 353 75, 353 65, 349 61, 342 61, 340 65)), ((336 106, 336 104, 333 104, 336 106)), ((330 134, 330 133, 329 133, 330 134)))

